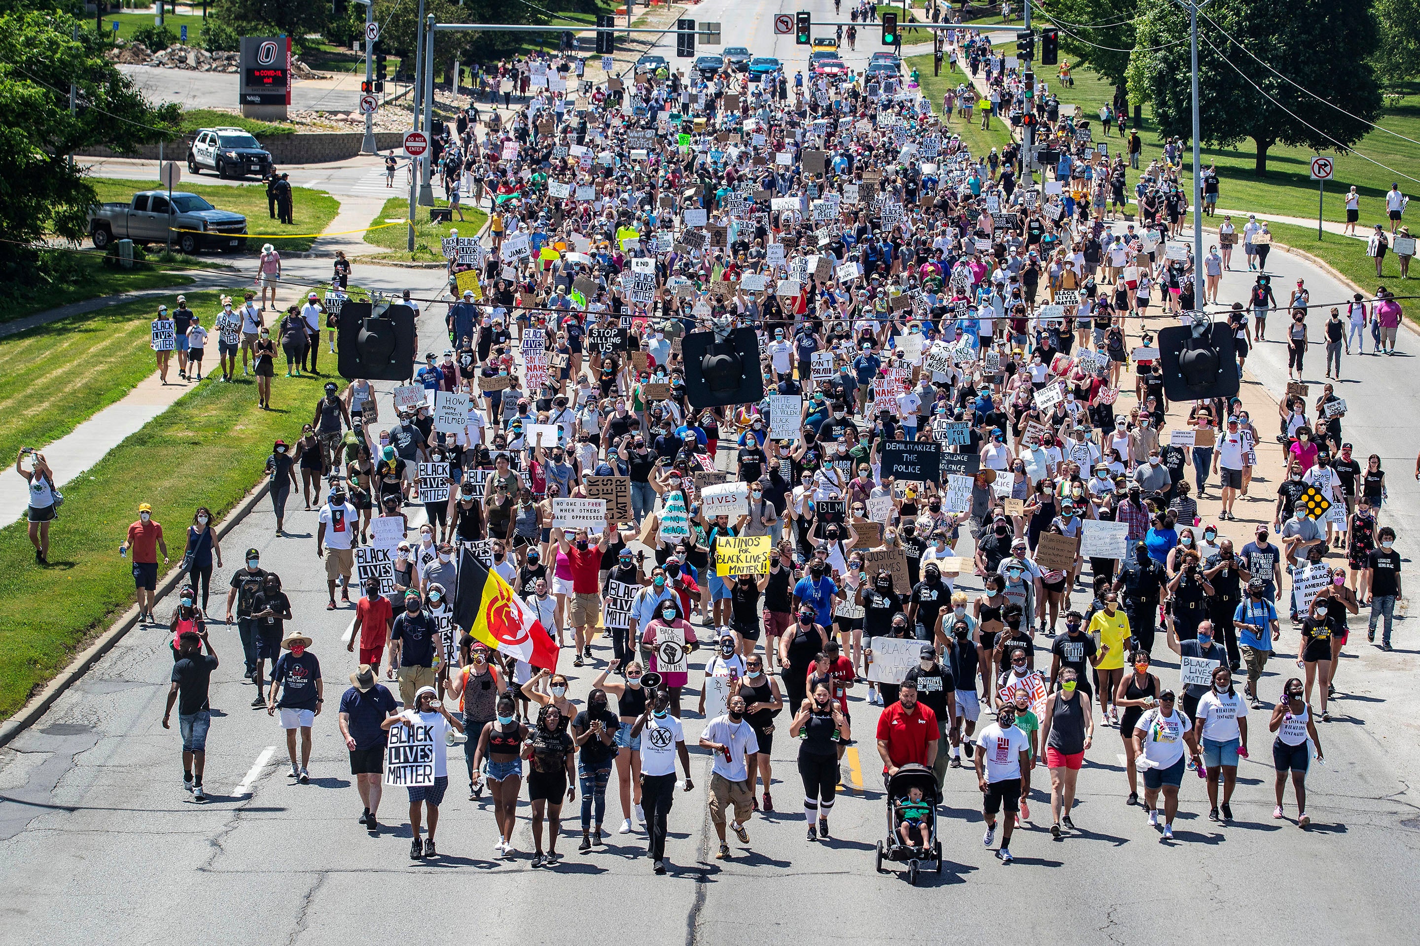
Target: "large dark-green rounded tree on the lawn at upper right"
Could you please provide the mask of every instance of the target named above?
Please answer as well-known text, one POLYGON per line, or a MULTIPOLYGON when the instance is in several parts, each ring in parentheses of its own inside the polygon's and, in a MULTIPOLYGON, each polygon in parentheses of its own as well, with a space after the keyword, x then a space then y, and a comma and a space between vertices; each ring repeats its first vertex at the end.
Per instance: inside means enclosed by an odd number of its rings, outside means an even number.
MULTIPOLYGON (((1204 11, 1207 18, 1198 17, 1203 142, 1231 148, 1244 138, 1252 139, 1254 173, 1265 177, 1272 145, 1349 148, 1369 130, 1366 122, 1380 111, 1380 89, 1370 65, 1376 18, 1369 0, 1365 4, 1217 0, 1204 11), (1285 82, 1224 33, 1294 82, 1325 94, 1345 112, 1285 82)), ((1160 133, 1191 138, 1187 14, 1172 3, 1150 4, 1135 27, 1137 47, 1129 61, 1129 98, 1153 104, 1160 133)))

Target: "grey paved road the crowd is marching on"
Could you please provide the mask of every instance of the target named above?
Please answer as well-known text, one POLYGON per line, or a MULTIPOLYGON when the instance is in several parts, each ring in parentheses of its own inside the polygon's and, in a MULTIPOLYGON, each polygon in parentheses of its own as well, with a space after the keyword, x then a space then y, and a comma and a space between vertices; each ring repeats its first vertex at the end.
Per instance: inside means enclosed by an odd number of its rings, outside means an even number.
MULTIPOLYGON (((831 11, 826 3, 811 9, 822 18, 831 11)), ((731 16, 730 10, 721 0, 697 7, 697 18, 724 20, 727 44, 741 41, 737 24, 743 23, 751 24, 747 40, 753 43, 777 11, 741 7, 731 16)), ((785 51, 782 43, 780 50, 785 51)), ((1287 279, 1305 274, 1314 299, 1343 298, 1316 271, 1284 254, 1272 258, 1287 279)), ((390 272, 416 291, 437 288, 437 275, 390 272)), ((1228 279, 1231 298, 1245 282, 1228 279)), ((436 338, 437 321, 437 313, 426 315, 426 338, 436 338)), ((1414 335, 1402 346, 1414 347, 1414 335)), ((1278 352, 1279 346, 1264 345, 1250 359, 1272 393, 1284 387, 1278 352)), ((1380 452, 1396 458, 1387 516, 1403 526, 1400 546, 1414 560, 1414 491, 1406 486, 1402 461, 1413 457, 1416 433, 1394 423, 1397 404, 1411 410, 1416 404, 1413 386, 1406 383, 1410 362, 1366 357, 1348 362, 1346 369, 1366 377, 1365 384, 1343 391, 1352 406, 1349 435, 1362 454, 1384 444, 1380 452)), ((160 521, 180 518, 179 511, 159 509, 160 521)), ((224 542, 229 567, 217 581, 226 580, 243 549, 261 549, 263 564, 283 574, 301 627, 315 638, 334 712, 354 662, 338 651, 351 613, 322 607, 314 513, 297 503, 288 528, 291 536, 275 538, 268 508, 258 508, 224 542)), ((1196 942, 1220 923, 1233 936, 1268 942, 1389 939, 1394 929, 1413 923, 1416 895, 1403 878, 1413 871, 1420 847, 1420 811, 1409 790, 1416 774, 1416 723, 1409 708, 1416 650, 1406 624, 1392 655, 1382 658, 1363 644, 1348 648, 1358 657, 1345 664, 1345 679, 1353 685, 1342 689, 1355 695, 1333 703, 1340 718, 1322 732, 1329 764, 1311 779, 1316 825, 1309 834, 1269 817, 1268 739, 1254 735, 1254 762, 1241 770, 1237 821, 1208 823, 1201 787, 1190 779, 1177 840, 1162 844, 1142 813, 1122 804, 1118 735, 1100 728, 1081 779, 1079 837, 1051 841, 1041 830, 1048 824, 1047 801, 1037 793, 1034 824, 1012 842, 1017 864, 1001 867, 980 844, 974 781, 966 772, 953 772, 943 821, 949 862, 940 879, 930 875, 919 889, 909 888, 900 872, 872 871, 885 803, 870 747, 876 708, 861 699, 855 698, 852 709, 862 755, 849 780, 863 790, 836 806, 834 841, 804 841, 795 747, 785 738, 774 753, 780 813, 755 817, 751 850, 736 845, 730 862, 711 857, 701 790, 707 779, 699 774, 707 772, 709 760, 696 753, 697 787, 679 794, 672 811, 669 878, 653 878, 649 864, 638 858, 640 834, 612 835, 611 844, 589 857, 577 855, 575 842, 564 838, 568 857, 554 871, 532 872, 525 855, 494 862, 487 801, 467 801, 456 790, 457 779, 439 831, 444 857, 410 865, 402 793, 390 793, 382 806, 382 820, 390 825, 383 837, 369 840, 355 824, 359 803, 334 720, 317 726, 312 784, 288 783, 281 730, 247 709, 251 689, 240 682, 239 642, 220 625, 213 640, 223 667, 213 702, 222 715, 213 723, 207 776, 214 798, 206 807, 192 804, 179 784, 178 736, 159 726, 169 668, 165 634, 142 630, 0 753, 0 882, 11 891, 7 939, 102 940, 118 915, 126 922, 126 939, 135 942, 170 939, 179 919, 193 933, 216 930, 234 945, 273 939, 348 943, 392 925, 447 940, 467 936, 470 923, 544 940, 585 929, 588 918, 596 923, 588 935, 594 942, 743 943, 746 937, 774 942, 811 935, 876 943, 922 936, 923 920, 930 929, 944 920, 953 936, 971 939, 1034 929, 1044 930, 1037 936, 1045 942, 1129 942, 1145 935, 1196 942), (273 746, 274 757, 267 753, 273 746), (141 884, 114 882, 133 865, 142 871, 141 884), (477 899, 469 899, 470 889, 477 889, 477 899), (180 912, 173 909, 175 896, 182 898, 180 912), (64 916, 62 926, 55 916, 64 916)), ((601 650, 604 657, 606 648, 601 650)), ((595 664, 591 671, 604 665, 601 658, 595 664)), ((1275 661, 1274 668, 1289 669, 1285 661, 1275 661)), ((1169 671, 1163 672, 1167 678, 1169 671)), ((586 672, 575 674, 578 699, 585 698, 586 681, 586 672)), ((1269 677, 1264 689, 1275 691, 1278 684, 1278 677, 1269 677)), ((687 723, 693 742, 700 720, 687 716, 687 723)), ((457 766, 457 750, 453 759, 457 766)), ((1038 779, 1044 781, 1044 773, 1038 779)), ((606 821, 616 824, 615 797, 609 808, 606 821)), ((575 825, 575 810, 569 813, 575 825)), ((520 814, 527 817, 525 806, 520 814)), ((531 850, 525 821, 515 840, 523 851, 531 850)))

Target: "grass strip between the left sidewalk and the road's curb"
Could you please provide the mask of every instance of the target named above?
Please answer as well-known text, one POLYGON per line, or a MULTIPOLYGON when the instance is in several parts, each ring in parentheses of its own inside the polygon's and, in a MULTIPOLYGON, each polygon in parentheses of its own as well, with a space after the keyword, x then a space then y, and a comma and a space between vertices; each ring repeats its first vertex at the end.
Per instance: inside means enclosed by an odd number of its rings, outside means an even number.
MULTIPOLYGON (((271 443, 300 435, 324 383, 277 377, 275 410, 263 411, 254 382, 203 382, 64 488, 48 567, 36 564, 24 522, 0 530, 0 569, 10 576, 0 589, 0 718, 11 716, 132 604, 132 572, 118 543, 138 503, 153 503, 176 567, 193 509, 206 505, 219 516, 231 509, 260 478, 271 443)), ((227 553, 236 560, 240 549, 227 553)), ((170 611, 166 601, 159 617, 170 611)), ((240 660, 236 638, 224 640, 222 658, 240 660)))

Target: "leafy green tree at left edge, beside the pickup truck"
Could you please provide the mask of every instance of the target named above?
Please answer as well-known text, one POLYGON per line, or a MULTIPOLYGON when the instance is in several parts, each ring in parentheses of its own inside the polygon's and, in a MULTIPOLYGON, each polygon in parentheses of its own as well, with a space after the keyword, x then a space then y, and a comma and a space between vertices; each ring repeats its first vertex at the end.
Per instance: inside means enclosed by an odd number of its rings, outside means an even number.
POLYGON ((80 240, 97 197, 75 150, 118 152, 173 136, 178 105, 149 105, 104 58, 87 21, 55 11, 0 13, 0 282, 33 282, 33 247, 57 234, 80 240), (78 40, 72 38, 74 26, 78 40), (70 113, 70 82, 78 109, 70 113))

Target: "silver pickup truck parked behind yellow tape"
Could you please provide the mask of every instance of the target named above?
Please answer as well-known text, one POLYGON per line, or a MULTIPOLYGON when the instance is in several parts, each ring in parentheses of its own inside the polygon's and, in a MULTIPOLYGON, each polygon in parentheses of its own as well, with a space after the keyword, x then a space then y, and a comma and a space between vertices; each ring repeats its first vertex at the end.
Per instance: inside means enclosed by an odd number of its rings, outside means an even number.
POLYGON ((106 250, 115 240, 168 243, 169 228, 173 245, 186 254, 239 251, 247 245, 246 217, 217 210, 197 194, 180 190, 173 191, 170 204, 166 190, 145 190, 133 194, 131 203, 99 204, 89 211, 89 238, 98 250, 106 250))

